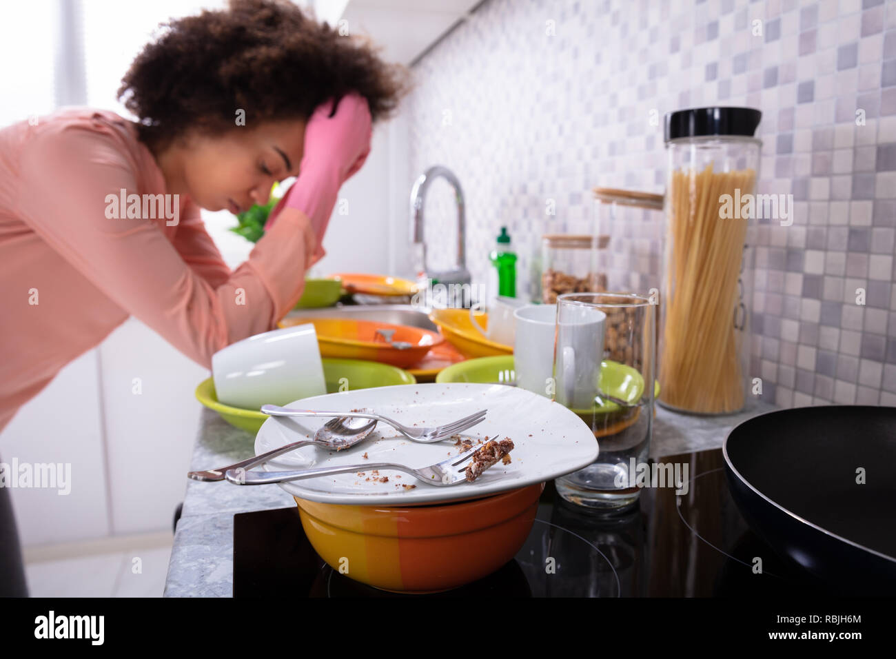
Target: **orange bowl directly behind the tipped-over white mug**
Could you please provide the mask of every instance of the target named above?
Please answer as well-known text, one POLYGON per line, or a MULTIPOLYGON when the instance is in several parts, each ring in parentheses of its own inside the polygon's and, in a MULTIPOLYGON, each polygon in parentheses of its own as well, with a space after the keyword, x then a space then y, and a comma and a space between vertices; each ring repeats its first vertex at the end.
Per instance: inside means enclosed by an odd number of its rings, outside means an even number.
POLYGON ((442 335, 420 327, 356 318, 289 316, 280 321, 280 327, 306 323, 314 325, 321 357, 381 361, 402 369, 417 364, 432 348, 444 343, 442 335), (379 329, 393 330, 392 341, 404 341, 410 343, 410 347, 403 350, 393 348, 382 336, 376 334, 379 329))

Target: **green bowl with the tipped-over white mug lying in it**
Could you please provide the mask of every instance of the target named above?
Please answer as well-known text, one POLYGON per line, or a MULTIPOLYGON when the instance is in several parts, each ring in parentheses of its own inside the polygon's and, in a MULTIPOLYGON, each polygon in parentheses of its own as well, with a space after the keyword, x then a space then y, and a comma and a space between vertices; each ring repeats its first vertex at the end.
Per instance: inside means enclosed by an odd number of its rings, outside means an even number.
MULTIPOLYGON (((345 378, 348 391, 369 389, 374 386, 413 385, 417 379, 408 371, 378 361, 338 360, 323 358, 323 379, 326 382, 327 394, 335 394, 340 390, 340 379, 345 378)), ((268 418, 258 410, 246 410, 242 407, 231 407, 218 402, 214 379, 202 380, 196 387, 196 400, 210 410, 220 414, 221 419, 235 428, 246 430, 253 435, 258 434, 268 418)))

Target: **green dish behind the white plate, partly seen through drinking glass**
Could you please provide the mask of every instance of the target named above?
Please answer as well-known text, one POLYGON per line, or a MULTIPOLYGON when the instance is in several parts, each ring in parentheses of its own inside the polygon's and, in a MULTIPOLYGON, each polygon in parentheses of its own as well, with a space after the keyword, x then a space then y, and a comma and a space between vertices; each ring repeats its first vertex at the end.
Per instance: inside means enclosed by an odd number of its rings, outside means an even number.
MULTIPOLYGON (((501 382, 513 371, 513 355, 498 355, 496 357, 478 357, 473 360, 461 361, 452 364, 442 370, 436 377, 436 382, 501 382)), ((600 369, 600 390, 614 398, 634 403, 641 398, 644 390, 644 378, 641 373, 631 366, 620 364, 617 361, 602 361, 600 369)), ((654 386, 654 397, 659 395, 659 382, 654 386)), ((618 412, 622 408, 616 403, 604 403, 595 405, 591 412, 609 414, 618 412)), ((587 410, 573 410, 576 413, 591 413, 587 410)))

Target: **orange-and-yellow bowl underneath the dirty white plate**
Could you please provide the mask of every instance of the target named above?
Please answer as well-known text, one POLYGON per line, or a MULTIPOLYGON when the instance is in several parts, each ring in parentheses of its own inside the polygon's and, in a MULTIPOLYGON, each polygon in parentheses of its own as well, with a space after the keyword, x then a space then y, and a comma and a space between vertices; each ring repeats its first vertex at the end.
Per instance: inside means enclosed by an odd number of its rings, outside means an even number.
POLYGON ((396 593, 437 593, 513 559, 545 483, 433 506, 340 506, 296 499, 302 527, 340 574, 396 593))

